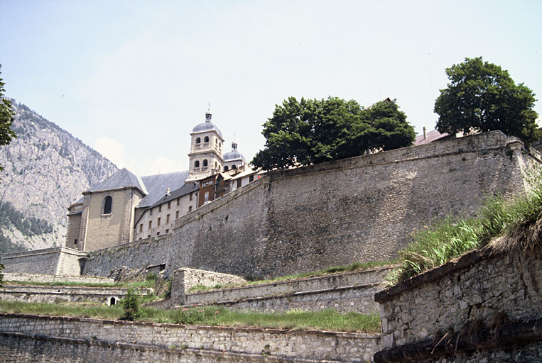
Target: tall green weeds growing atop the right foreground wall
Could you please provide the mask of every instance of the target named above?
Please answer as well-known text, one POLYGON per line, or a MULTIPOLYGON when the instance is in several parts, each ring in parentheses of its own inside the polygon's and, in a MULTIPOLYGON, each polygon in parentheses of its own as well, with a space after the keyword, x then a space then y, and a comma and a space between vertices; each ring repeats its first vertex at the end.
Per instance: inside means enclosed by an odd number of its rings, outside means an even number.
POLYGON ((531 177, 529 184, 531 191, 526 195, 487 199, 475 218, 448 217, 416 233, 414 241, 399 251, 403 266, 389 274, 389 283, 397 284, 484 246, 506 252, 540 244, 542 178, 531 177))

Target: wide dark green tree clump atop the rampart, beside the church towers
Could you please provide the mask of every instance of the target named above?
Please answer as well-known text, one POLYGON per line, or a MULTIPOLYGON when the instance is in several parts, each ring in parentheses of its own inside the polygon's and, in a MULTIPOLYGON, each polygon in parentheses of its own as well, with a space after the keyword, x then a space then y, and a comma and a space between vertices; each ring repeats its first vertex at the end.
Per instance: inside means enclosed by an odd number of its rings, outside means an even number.
POLYGON ((415 133, 396 101, 364 109, 337 97, 290 97, 264 123, 266 138, 252 164, 266 170, 317 164, 411 145, 415 133))

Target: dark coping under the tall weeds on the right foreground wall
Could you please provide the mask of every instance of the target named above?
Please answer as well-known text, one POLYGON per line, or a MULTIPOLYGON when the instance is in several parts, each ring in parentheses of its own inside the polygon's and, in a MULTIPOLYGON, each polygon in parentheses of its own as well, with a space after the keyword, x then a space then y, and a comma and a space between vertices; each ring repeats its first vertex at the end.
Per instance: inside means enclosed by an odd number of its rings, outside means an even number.
POLYGON ((455 261, 446 262, 440 267, 435 267, 430 269, 427 272, 418 274, 415 277, 403 281, 395 286, 391 286, 389 289, 380 291, 374 295, 374 301, 377 303, 384 303, 385 301, 390 301, 394 296, 403 294, 406 291, 416 289, 416 287, 423 284, 427 284, 431 281, 440 279, 441 277, 450 274, 452 272, 460 271, 462 269, 467 269, 482 259, 487 259, 490 257, 496 257, 495 252, 492 252, 489 249, 474 250, 472 252, 467 252, 465 255, 462 255, 455 261))

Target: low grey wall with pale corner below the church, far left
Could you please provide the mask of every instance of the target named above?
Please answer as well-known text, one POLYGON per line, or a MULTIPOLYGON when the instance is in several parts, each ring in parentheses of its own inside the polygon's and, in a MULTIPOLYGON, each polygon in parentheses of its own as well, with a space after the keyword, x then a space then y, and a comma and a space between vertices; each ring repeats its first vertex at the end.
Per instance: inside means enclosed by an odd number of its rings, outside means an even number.
POLYGON ((80 259, 86 257, 85 252, 67 247, 53 247, 6 253, 1 262, 6 267, 5 272, 9 273, 79 275, 80 259))

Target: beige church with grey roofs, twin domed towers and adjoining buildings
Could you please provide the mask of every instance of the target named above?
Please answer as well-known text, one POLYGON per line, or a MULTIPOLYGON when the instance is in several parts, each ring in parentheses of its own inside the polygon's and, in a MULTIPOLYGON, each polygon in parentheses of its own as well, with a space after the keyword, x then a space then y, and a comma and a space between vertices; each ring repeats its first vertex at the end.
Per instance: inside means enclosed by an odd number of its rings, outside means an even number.
POLYGON ((210 111, 190 138, 188 171, 138 177, 124 168, 83 191, 68 207, 65 246, 93 251, 169 233, 180 216, 261 176, 237 143, 223 153, 224 138, 210 111))

